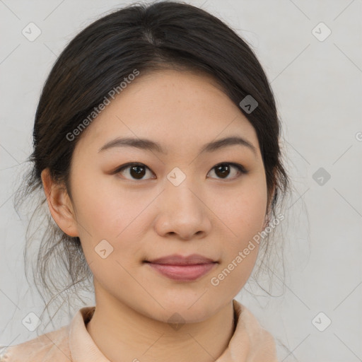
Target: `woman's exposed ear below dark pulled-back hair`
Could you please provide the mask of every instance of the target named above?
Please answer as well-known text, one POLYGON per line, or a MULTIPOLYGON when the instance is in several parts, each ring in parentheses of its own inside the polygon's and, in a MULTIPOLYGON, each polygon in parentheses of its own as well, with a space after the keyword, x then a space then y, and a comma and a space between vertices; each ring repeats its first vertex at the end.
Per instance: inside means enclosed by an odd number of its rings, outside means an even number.
POLYGON ((76 214, 66 187, 52 180, 49 168, 42 170, 41 177, 49 211, 57 226, 69 236, 78 236, 76 214))

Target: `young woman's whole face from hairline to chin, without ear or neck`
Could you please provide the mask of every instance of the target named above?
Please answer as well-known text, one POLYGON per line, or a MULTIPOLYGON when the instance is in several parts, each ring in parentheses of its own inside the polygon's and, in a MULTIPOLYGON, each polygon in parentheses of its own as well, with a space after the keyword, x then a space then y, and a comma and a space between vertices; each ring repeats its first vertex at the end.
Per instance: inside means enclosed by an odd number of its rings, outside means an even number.
POLYGON ((164 322, 173 313, 198 322, 230 303, 250 276, 258 247, 243 250, 264 227, 264 166, 255 129, 212 78, 141 74, 83 131, 70 183, 102 303, 164 322), (202 151, 227 137, 251 147, 225 143, 202 151), (125 138, 133 146, 113 142, 125 138), (151 263, 194 254, 211 262, 151 263))

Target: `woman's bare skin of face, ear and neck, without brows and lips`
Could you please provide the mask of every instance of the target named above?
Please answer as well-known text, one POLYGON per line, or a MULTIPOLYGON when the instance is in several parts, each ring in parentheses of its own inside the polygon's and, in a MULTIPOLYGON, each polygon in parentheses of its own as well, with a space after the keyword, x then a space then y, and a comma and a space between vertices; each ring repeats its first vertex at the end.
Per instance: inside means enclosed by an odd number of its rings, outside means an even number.
MULTIPOLYGON (((64 142, 67 140, 64 139, 64 142)), ((87 329, 111 361, 214 361, 234 332, 233 298, 249 278, 258 247, 218 286, 211 284, 263 230, 267 182, 257 134, 210 76, 164 70, 142 74, 83 131, 71 163, 71 196, 46 170, 49 210, 64 233, 79 236, 93 271, 96 309, 87 329), (116 137, 147 138, 167 154, 131 147, 98 152, 116 137), (241 136, 240 145, 199 153, 210 141, 241 136), (137 180, 125 163, 147 166, 137 180), (240 163, 223 177, 218 163, 240 163), (167 175, 180 168, 185 180, 167 175), (95 249, 107 240, 105 259, 95 249), (193 253, 218 262, 196 281, 173 281, 144 263, 193 253), (180 329, 170 327, 178 313, 180 329)))

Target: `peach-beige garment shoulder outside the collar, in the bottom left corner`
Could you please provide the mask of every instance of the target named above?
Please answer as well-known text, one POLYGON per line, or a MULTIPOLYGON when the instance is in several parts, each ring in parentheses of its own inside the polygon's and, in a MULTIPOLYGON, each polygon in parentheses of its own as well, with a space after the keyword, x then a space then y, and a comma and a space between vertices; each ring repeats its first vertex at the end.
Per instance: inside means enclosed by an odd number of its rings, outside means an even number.
POLYGON ((0 362, 69 362, 69 325, 15 346, 0 346, 0 362))

